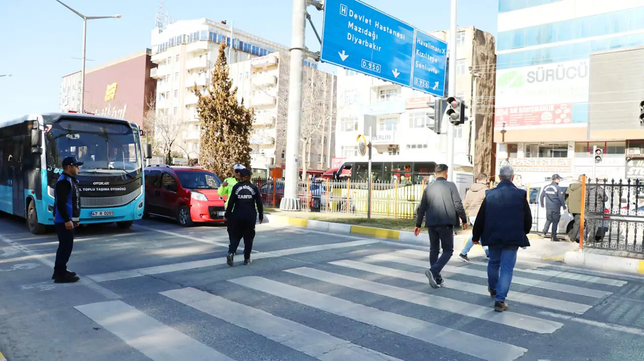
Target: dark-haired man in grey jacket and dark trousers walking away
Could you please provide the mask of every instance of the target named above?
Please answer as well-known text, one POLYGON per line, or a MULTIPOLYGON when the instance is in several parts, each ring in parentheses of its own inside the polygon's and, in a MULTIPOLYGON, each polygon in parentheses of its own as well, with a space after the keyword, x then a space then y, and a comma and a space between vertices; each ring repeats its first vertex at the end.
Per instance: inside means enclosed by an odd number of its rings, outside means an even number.
POLYGON ((430 269, 425 275, 430 281, 431 288, 439 288, 443 284, 440 271, 450 261, 454 252, 454 226, 462 223, 463 229, 468 229, 468 218, 460 201, 459 189, 447 181, 448 168, 439 164, 435 169, 436 181, 429 184, 422 194, 421 207, 418 208, 416 228, 413 233, 421 233, 422 214, 425 215, 425 227, 430 234, 430 269), (442 255, 439 251, 442 247, 442 255))

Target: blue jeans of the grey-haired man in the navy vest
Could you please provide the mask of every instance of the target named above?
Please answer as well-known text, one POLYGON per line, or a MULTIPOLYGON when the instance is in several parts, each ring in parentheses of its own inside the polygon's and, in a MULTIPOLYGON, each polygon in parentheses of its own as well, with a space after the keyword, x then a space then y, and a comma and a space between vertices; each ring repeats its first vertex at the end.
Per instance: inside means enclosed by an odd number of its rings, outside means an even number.
POLYGON ((518 248, 489 248, 488 285, 491 290, 497 291, 494 301, 506 301, 515 269, 517 250, 518 248))

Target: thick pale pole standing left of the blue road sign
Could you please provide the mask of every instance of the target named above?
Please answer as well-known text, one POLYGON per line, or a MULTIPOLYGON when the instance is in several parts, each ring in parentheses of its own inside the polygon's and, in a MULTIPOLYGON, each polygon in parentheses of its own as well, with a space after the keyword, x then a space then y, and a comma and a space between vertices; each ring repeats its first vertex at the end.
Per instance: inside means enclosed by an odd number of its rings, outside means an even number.
MULTIPOLYGON (((279 203, 282 210, 299 210, 298 199, 298 150, 302 118, 302 79, 304 68, 305 35, 307 26, 307 0, 293 0, 293 19, 289 73, 289 116, 287 119, 284 198, 279 203)), ((302 160, 305 162, 305 160, 302 160)))

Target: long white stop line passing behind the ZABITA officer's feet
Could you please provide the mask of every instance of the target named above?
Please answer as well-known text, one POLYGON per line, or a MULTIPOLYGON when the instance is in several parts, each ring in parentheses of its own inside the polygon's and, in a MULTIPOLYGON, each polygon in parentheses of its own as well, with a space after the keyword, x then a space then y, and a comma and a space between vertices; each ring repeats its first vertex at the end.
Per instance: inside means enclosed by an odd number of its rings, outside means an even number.
MULTIPOLYGON (((372 239, 360 239, 358 241, 351 242, 340 242, 340 243, 329 243, 327 245, 318 245, 318 246, 305 246, 298 248, 287 248, 285 250, 276 250, 270 252, 258 252, 253 254, 254 259, 261 258, 272 258, 272 257, 282 257, 285 255, 294 255, 294 254, 303 254, 308 252, 317 252, 323 250, 333 250, 337 248, 347 248, 355 246, 364 246, 371 245, 372 243, 378 243, 372 239)), ((211 259, 202 259, 200 261, 189 261, 182 263, 173 263, 173 264, 164 264, 162 266, 152 266, 146 268, 137 268, 135 270, 124 270, 108 273, 100 273, 95 275, 88 275, 88 279, 91 279, 94 282, 107 282, 107 281, 117 281, 120 279, 131 279, 135 277, 142 277, 146 275, 158 275, 160 273, 168 272, 179 272, 194 270, 196 268, 204 268, 211 266, 219 266, 226 264, 226 257, 218 257, 211 259)))

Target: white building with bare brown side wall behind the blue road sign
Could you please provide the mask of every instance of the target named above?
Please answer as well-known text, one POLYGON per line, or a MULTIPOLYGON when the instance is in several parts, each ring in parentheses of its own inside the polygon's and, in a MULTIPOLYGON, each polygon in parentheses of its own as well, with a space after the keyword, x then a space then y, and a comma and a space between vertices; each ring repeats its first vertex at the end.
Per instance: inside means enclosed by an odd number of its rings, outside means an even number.
MULTIPOLYGON (((431 35, 449 39, 449 32, 431 35)), ((454 163, 464 171, 492 174, 489 109, 495 76, 489 64, 495 64, 494 37, 473 27, 459 28, 456 46, 455 96, 468 104, 469 120, 455 129, 454 163)), ((374 160, 446 162, 447 124, 442 134, 433 131, 433 97, 350 70, 337 76, 337 97, 337 157, 356 158, 357 134, 370 134, 372 129, 374 160)))

